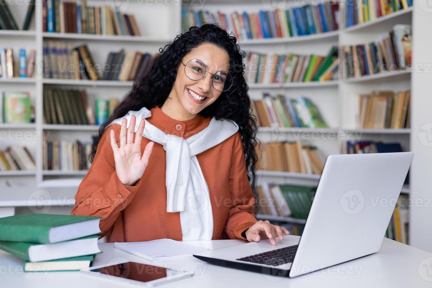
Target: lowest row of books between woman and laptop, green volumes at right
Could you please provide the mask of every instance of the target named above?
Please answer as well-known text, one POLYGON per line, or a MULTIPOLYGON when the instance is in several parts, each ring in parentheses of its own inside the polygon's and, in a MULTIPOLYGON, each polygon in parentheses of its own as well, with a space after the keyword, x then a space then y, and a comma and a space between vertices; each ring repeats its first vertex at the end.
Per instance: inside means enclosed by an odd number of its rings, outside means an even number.
POLYGON ((257 192, 259 214, 306 219, 315 187, 263 182, 257 192))

